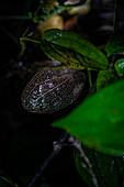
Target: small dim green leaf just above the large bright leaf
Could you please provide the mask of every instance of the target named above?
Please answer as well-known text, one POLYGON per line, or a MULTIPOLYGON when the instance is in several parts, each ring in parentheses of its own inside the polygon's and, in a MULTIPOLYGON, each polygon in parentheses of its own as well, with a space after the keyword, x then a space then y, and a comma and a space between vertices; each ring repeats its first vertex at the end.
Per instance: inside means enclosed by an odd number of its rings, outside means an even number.
POLYGON ((100 70, 97 78, 97 91, 101 90, 102 88, 105 88, 110 84, 117 80, 115 70, 112 68, 109 68, 106 70, 100 70))

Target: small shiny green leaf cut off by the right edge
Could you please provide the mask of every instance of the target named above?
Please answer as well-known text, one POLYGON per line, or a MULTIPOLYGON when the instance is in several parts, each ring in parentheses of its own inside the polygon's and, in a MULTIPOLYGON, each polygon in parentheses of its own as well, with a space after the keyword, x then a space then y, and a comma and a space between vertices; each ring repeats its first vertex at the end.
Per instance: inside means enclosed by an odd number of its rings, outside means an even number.
POLYGON ((124 58, 119 59, 114 65, 120 78, 124 78, 124 58))

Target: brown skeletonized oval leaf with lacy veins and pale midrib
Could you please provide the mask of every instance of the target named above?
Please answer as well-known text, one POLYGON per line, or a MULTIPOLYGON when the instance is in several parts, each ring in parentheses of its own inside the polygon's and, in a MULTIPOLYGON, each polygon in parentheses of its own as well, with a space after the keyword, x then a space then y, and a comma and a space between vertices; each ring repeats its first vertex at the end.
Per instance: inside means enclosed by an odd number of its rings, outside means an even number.
POLYGON ((22 94, 23 107, 37 113, 52 113, 71 105, 82 92, 86 76, 71 68, 42 69, 22 94))

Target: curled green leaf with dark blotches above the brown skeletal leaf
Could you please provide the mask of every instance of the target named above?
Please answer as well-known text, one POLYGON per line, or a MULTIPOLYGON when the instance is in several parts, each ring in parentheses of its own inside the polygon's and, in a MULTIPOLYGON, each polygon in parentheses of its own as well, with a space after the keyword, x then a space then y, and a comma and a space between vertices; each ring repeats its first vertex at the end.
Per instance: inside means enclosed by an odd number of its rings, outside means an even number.
MULTIPOLYGON (((41 44, 42 47, 45 43, 46 45, 49 45, 49 48, 54 46, 54 51, 59 51, 58 53, 61 53, 61 56, 66 54, 68 61, 75 56, 75 63, 84 66, 86 68, 108 69, 109 63, 103 53, 89 41, 80 37, 76 33, 53 29, 47 30, 43 34, 42 40, 44 42, 41 44), (86 61, 84 57, 92 61, 86 61)), ((45 47, 43 47, 43 51, 50 57, 50 50, 45 50, 45 47)), ((54 59, 55 58, 56 55, 54 55, 54 59)))

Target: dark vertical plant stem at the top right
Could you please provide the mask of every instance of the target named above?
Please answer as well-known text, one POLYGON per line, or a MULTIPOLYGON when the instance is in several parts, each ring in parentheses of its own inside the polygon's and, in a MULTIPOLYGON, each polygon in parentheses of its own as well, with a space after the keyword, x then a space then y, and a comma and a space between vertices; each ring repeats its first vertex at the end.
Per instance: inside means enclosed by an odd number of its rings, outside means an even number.
POLYGON ((119 18, 120 18, 120 0, 115 0, 114 3, 114 34, 119 33, 119 18))

